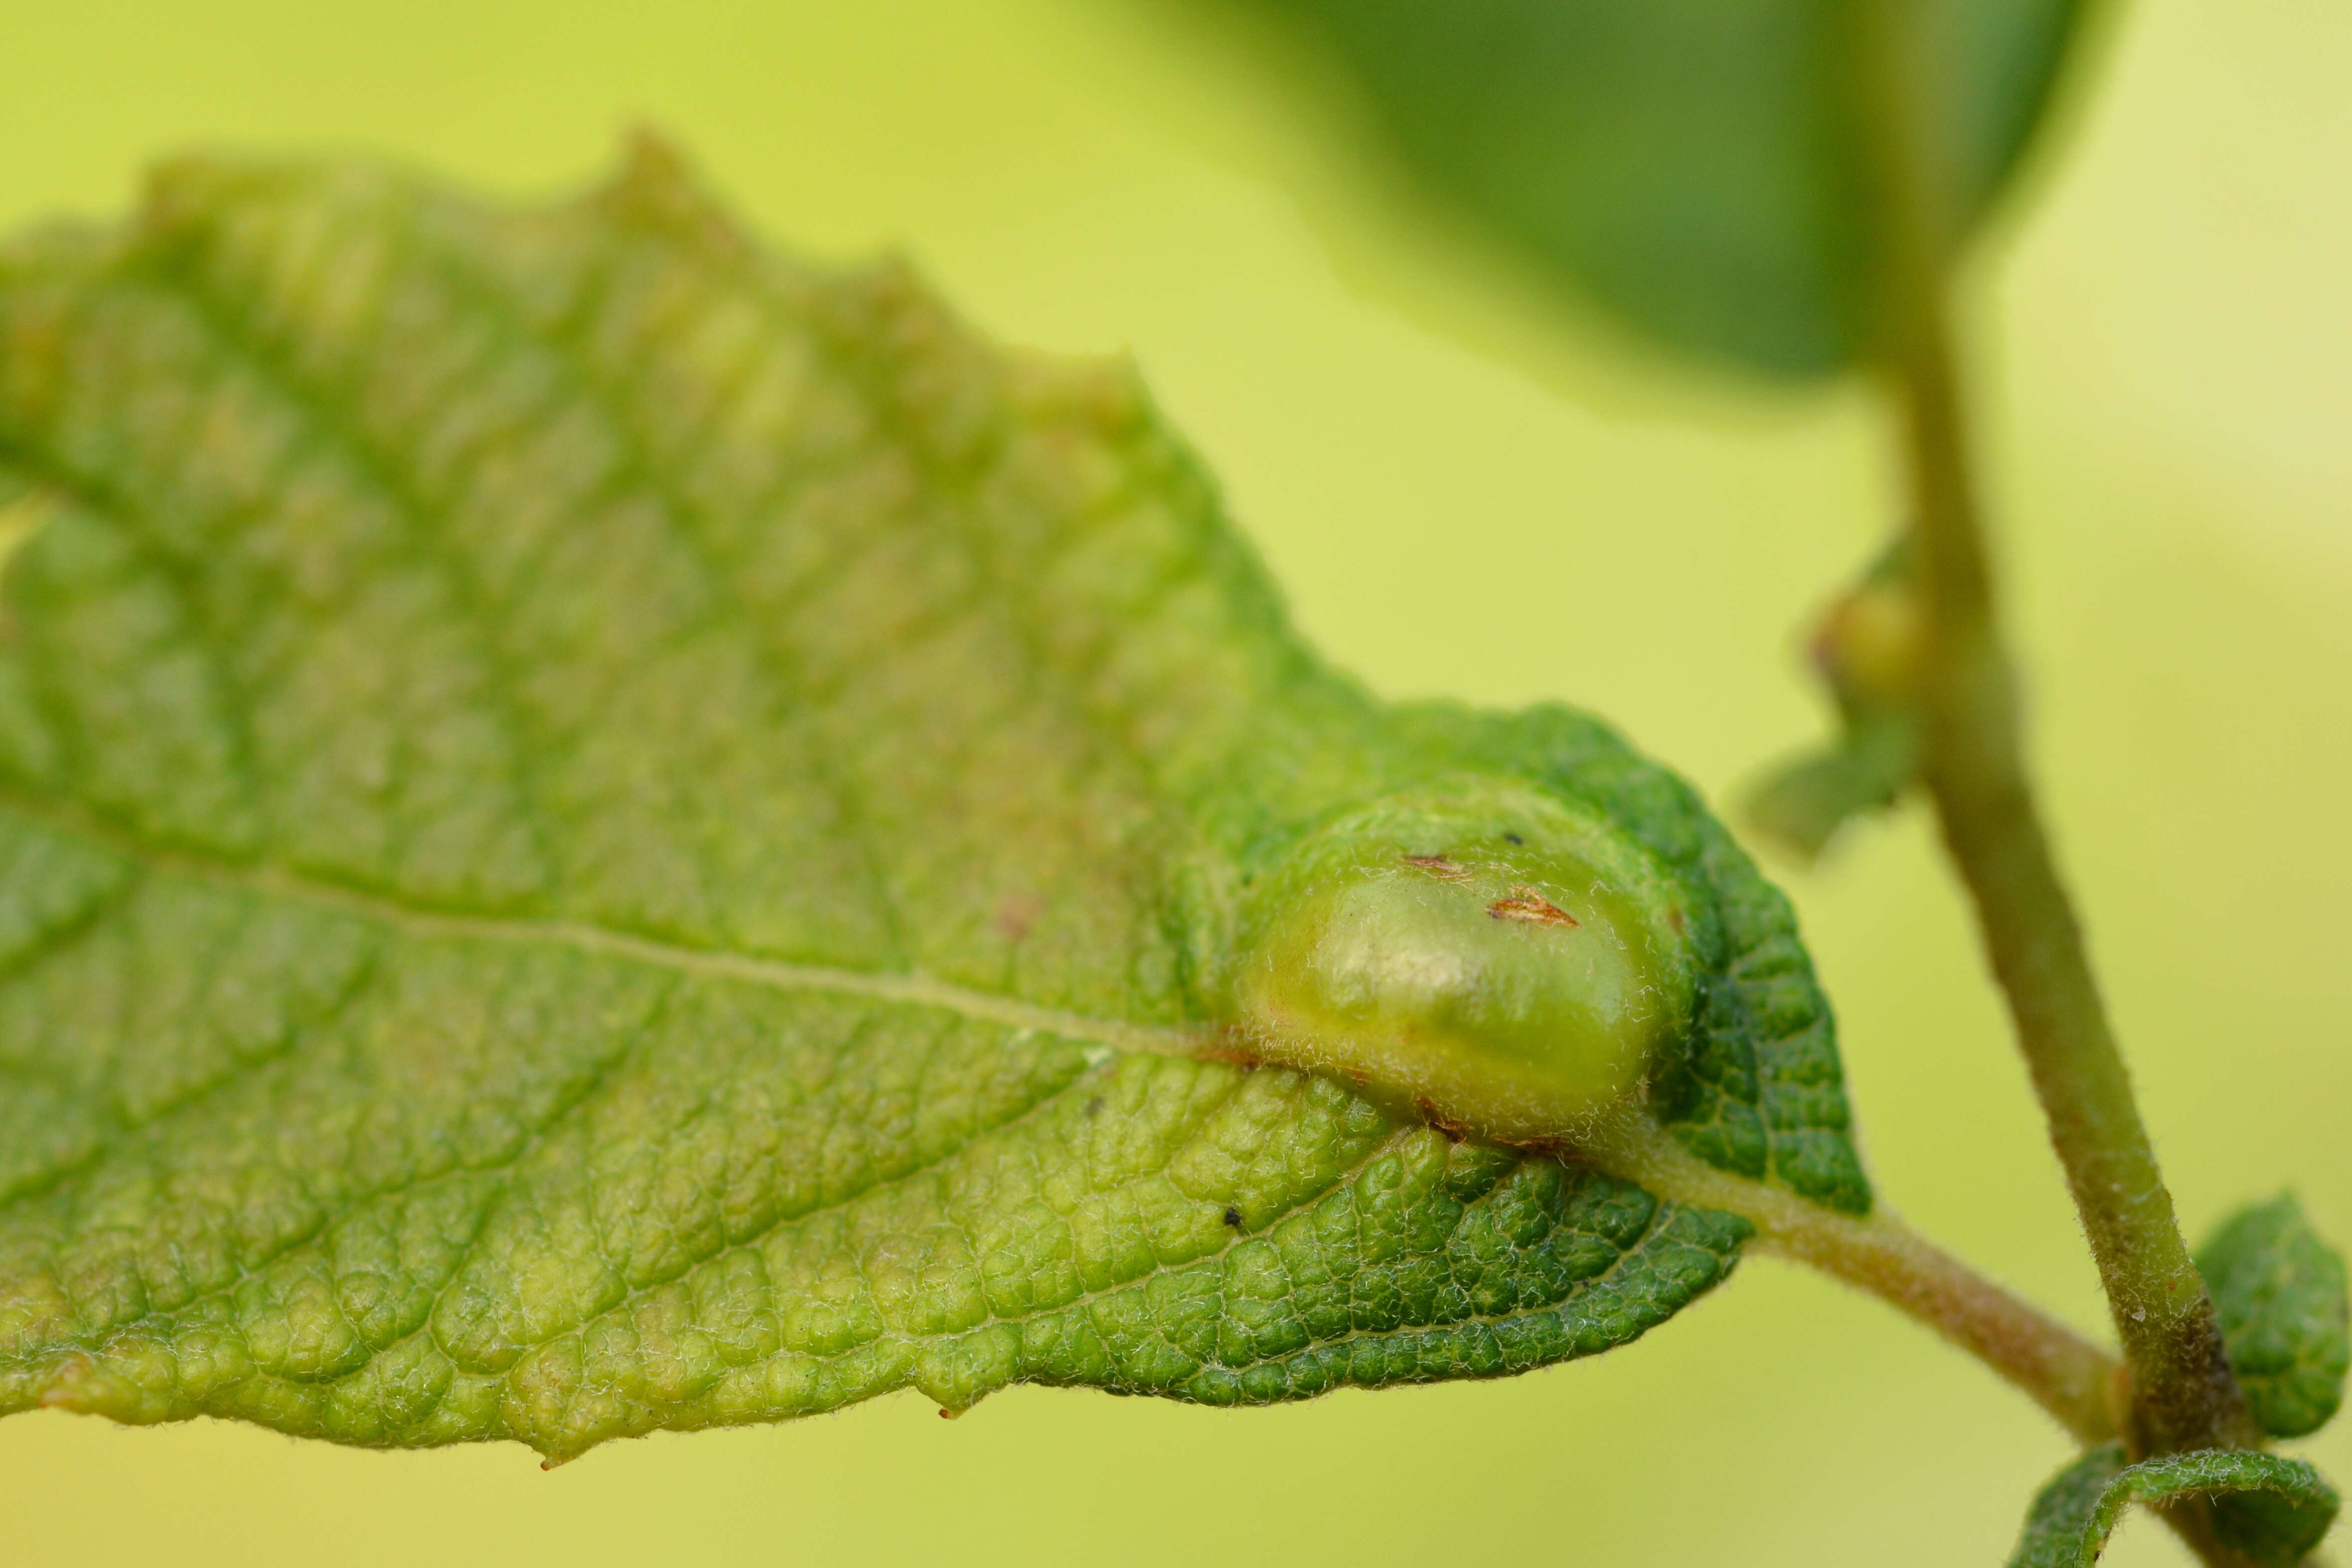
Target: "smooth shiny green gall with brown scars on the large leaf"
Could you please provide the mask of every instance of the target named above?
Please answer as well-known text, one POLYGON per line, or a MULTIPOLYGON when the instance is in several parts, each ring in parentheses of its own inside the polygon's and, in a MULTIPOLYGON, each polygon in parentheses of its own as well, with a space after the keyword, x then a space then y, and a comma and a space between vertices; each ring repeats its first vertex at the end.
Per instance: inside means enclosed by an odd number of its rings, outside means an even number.
POLYGON ((1235 1016, 1261 1058, 1444 1126, 1573 1140, 1689 1027, 1684 924, 1682 886, 1606 818, 1477 780, 1294 849, 1249 910, 1235 1016))

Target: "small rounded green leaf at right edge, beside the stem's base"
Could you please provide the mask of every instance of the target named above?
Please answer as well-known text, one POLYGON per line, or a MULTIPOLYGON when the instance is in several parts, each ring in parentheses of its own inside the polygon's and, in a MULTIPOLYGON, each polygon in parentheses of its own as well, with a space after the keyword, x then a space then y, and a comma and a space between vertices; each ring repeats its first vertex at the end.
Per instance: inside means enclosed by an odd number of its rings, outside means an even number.
POLYGON ((2263 1432, 2319 1432, 2345 1396, 2345 1262, 2296 1194, 2223 1220, 2197 1253, 2223 1345, 2263 1432))

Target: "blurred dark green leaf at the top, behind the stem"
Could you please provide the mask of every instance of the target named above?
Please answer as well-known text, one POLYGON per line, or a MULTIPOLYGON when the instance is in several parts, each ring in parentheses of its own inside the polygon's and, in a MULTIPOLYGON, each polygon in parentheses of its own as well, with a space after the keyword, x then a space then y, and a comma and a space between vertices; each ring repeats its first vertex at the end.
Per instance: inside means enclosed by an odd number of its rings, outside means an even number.
MULTIPOLYGON (((1870 2, 1254 0, 1327 40, 1402 160, 1477 221, 1663 343, 1780 376, 1865 357, 1879 310, 1856 89, 1870 2)), ((1900 9, 1964 233, 2084 7, 1900 9)))

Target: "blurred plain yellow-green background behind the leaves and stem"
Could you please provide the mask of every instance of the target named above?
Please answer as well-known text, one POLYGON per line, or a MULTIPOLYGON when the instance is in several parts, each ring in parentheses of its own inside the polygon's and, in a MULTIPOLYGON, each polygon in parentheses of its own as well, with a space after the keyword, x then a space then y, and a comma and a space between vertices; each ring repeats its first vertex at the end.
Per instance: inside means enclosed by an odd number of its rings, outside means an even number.
MULTIPOLYGON (((1790 630, 1886 515, 1870 407, 1628 364, 1136 5, 0 0, 0 226, 191 141, 539 195, 649 120, 779 242, 1134 353, 1383 691, 1581 701, 1715 799, 1816 733, 1790 630)), ((2147 0, 2105 54, 1973 296, 2039 762, 2192 1232, 2293 1182, 2352 1239, 2352 9, 2147 0)), ((2098 1324, 1922 823, 1788 882, 1884 1199, 2098 1324)), ((28 1415, 0 1561, 1990 1566, 2063 1453, 1757 1260, 1604 1361, 1277 1410, 906 1394, 555 1474, 28 1415)), ((2352 1479, 2352 1432, 2312 1453, 2352 1479)), ((2110 1561, 2178 1559, 2140 1523, 2110 1561)))

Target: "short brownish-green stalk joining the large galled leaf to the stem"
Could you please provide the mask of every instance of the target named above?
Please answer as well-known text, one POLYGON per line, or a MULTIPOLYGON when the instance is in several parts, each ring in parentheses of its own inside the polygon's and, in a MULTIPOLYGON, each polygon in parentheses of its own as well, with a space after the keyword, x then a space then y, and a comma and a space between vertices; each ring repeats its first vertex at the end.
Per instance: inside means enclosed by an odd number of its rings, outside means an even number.
POLYGON ((1719 1171, 1649 1117, 1628 1117, 1578 1154, 1611 1175, 1757 1227, 1757 1244, 1870 1291, 1969 1352, 2049 1410, 2086 1448, 2117 1436, 2119 1366, 2065 1324, 1969 1269, 1893 1215, 1844 1215, 1719 1171))

